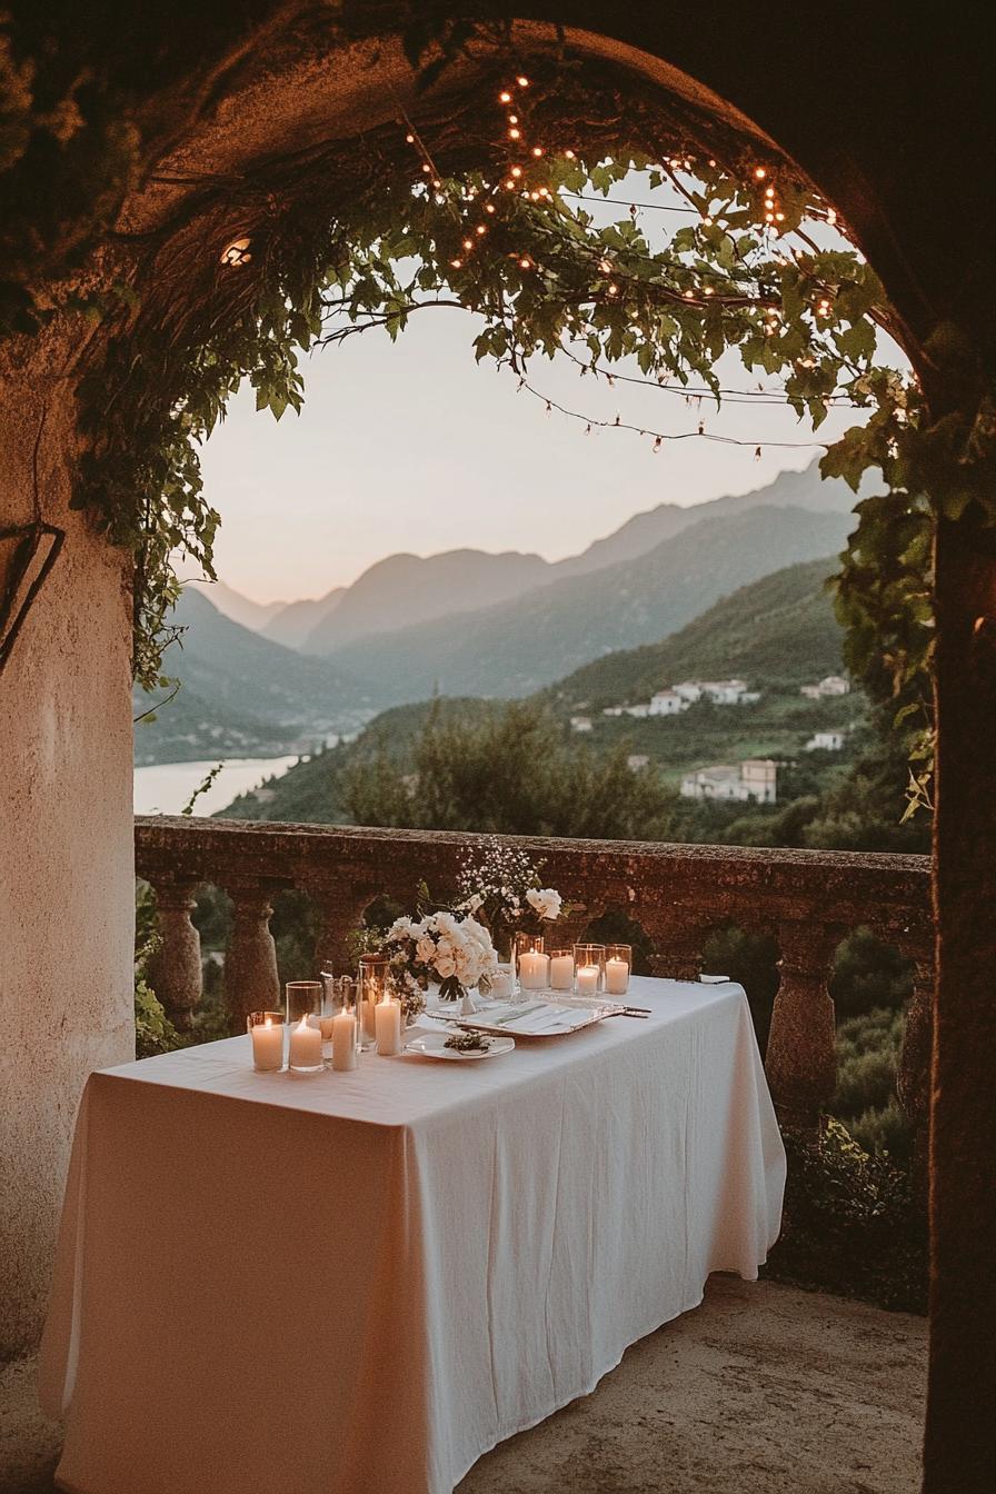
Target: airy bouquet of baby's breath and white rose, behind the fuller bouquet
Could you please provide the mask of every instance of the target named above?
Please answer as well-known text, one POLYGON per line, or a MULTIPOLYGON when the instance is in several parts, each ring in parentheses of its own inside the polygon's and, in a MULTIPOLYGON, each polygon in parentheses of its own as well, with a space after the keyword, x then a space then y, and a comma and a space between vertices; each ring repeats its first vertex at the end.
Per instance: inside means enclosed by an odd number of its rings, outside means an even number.
POLYGON ((503 961, 511 959, 515 934, 538 934, 564 910, 560 893, 541 886, 539 872, 524 850, 496 835, 487 837, 482 853, 470 850, 460 864, 457 913, 487 923, 503 961))

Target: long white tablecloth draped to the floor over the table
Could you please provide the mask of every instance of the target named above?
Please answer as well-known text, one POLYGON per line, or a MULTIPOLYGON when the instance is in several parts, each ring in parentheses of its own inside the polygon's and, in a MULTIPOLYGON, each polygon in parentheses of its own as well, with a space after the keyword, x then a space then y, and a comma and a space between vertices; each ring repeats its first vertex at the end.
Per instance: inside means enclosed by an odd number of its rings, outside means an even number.
POLYGON ((79 1494, 449 1494, 709 1271, 784 1150, 739 986, 475 1064, 257 1074, 239 1037, 94 1074, 43 1403, 79 1494))

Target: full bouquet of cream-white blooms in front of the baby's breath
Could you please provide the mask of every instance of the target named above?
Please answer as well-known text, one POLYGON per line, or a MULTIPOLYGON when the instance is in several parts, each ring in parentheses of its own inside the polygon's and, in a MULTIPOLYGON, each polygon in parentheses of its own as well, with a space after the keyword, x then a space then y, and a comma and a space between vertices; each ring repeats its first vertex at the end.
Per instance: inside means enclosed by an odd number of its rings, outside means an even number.
POLYGON ((429 913, 396 919, 384 938, 388 979, 406 1019, 426 1005, 426 991, 439 982, 442 1001, 458 1001, 470 986, 497 971, 491 935, 469 913, 429 913))

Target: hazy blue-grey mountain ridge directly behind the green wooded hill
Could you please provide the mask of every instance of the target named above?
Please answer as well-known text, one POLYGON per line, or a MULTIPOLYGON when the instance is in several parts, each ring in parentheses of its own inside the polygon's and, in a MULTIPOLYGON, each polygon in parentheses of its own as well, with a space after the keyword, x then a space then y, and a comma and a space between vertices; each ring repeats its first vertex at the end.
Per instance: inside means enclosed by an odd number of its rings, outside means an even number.
POLYGON ((363 638, 333 657, 382 704, 520 696, 620 648, 663 638, 772 569, 826 556, 850 515, 750 508, 705 518, 636 560, 567 577, 485 611, 363 638))

